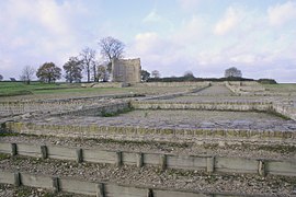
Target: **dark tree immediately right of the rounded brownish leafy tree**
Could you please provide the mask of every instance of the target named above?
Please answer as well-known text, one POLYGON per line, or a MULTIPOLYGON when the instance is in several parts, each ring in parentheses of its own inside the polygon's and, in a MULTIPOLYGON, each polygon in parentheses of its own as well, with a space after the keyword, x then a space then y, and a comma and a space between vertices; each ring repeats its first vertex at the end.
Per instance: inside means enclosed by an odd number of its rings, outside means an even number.
POLYGON ((70 57, 69 60, 62 66, 66 71, 67 82, 80 82, 82 79, 82 61, 77 57, 70 57))

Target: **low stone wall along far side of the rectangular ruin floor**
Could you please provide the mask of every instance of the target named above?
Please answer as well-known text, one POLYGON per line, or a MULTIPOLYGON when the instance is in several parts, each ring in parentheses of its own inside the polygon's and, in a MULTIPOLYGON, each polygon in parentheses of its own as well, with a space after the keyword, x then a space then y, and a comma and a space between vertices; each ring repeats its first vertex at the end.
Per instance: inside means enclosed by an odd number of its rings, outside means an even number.
POLYGON ((202 111, 260 111, 272 109, 271 102, 212 102, 212 103, 185 103, 185 102, 157 102, 157 101, 133 101, 135 109, 202 109, 202 111))

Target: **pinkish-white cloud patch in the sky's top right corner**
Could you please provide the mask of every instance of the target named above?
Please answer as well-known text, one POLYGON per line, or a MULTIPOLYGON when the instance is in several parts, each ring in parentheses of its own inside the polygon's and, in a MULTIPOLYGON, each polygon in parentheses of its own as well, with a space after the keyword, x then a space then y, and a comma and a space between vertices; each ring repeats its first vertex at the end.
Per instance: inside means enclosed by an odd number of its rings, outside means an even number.
POLYGON ((284 4, 270 7, 267 10, 269 21, 271 25, 278 26, 288 21, 295 23, 296 20, 296 2, 287 1, 284 4))

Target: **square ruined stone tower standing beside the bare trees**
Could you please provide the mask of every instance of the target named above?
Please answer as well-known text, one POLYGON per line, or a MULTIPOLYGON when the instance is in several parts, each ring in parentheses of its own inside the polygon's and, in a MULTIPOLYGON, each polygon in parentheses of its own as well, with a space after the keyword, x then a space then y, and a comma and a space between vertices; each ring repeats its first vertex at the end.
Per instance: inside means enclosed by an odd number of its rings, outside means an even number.
POLYGON ((112 81, 123 83, 140 82, 140 58, 136 59, 113 59, 112 81))

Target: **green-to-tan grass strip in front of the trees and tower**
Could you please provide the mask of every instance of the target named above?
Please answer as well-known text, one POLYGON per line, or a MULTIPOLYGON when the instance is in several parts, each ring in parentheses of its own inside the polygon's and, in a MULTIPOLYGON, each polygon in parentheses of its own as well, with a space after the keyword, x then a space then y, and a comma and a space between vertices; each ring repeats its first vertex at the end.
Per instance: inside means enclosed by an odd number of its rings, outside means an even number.
POLYGON ((186 86, 179 88, 81 88, 81 83, 41 83, 32 82, 0 82, 0 100, 44 100, 44 99, 69 99, 79 96, 95 96, 110 94, 163 94, 169 92, 182 92, 186 86))

